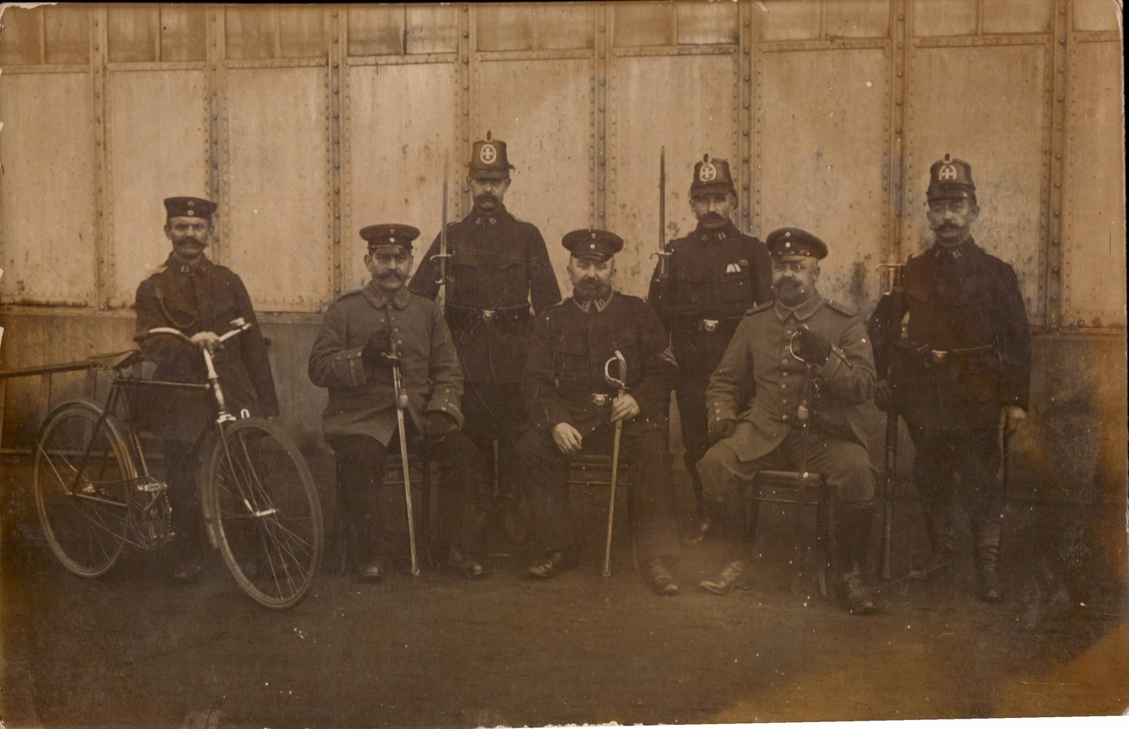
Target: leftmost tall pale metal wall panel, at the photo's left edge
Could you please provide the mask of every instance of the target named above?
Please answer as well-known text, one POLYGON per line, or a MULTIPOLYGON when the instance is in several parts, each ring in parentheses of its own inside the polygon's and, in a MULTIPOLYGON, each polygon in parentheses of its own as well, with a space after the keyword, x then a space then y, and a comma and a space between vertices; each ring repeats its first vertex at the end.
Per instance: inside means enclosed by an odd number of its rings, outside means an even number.
POLYGON ((90 111, 87 73, 0 80, 5 304, 95 302, 90 111))

